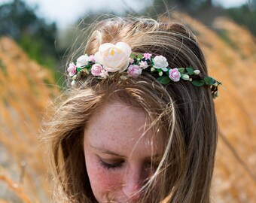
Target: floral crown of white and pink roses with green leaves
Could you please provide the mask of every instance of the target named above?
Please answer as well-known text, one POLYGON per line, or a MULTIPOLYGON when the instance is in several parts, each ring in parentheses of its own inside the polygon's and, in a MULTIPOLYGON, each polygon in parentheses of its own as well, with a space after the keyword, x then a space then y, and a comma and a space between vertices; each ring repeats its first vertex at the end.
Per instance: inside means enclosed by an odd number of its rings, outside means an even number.
POLYGON ((210 86, 213 98, 218 97, 218 82, 212 77, 206 76, 203 79, 195 79, 200 70, 192 67, 169 68, 167 59, 164 56, 154 56, 151 53, 135 54, 131 47, 125 42, 117 44, 105 43, 99 46, 99 51, 93 56, 84 54, 77 59, 77 62, 69 63, 69 76, 72 77, 72 86, 80 74, 93 74, 99 79, 105 79, 109 74, 119 71, 126 73, 120 79, 127 77, 138 77, 142 71, 158 72, 157 81, 162 84, 188 80, 194 86, 210 86))

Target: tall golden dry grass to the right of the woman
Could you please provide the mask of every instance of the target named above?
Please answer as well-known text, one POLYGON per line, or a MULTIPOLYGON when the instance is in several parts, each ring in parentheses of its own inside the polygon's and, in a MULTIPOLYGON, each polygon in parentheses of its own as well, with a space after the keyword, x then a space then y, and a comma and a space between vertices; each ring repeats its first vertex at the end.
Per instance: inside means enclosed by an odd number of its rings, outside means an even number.
POLYGON ((209 74, 222 81, 215 100, 220 128, 213 202, 256 202, 256 45, 236 23, 218 18, 213 24, 224 38, 187 15, 175 14, 196 31, 209 74))

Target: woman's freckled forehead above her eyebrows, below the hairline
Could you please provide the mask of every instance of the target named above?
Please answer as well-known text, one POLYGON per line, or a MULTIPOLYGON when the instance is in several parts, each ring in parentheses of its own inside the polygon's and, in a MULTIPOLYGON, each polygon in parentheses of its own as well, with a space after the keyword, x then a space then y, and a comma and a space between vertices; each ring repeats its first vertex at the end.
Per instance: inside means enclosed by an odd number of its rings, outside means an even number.
POLYGON ((128 152, 159 153, 160 135, 156 135, 145 113, 139 108, 114 102, 103 105, 93 115, 84 131, 84 140, 105 150, 111 150, 128 156, 128 152))

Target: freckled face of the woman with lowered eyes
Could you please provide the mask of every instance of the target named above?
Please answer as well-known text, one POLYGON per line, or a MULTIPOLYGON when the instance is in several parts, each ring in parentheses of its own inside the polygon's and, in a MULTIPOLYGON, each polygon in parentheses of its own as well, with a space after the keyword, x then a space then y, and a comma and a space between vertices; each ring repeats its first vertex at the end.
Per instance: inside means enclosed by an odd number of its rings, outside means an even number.
MULTIPOLYGON (((84 131, 84 156, 97 201, 138 202, 139 189, 163 156, 163 143, 145 132, 145 114, 121 103, 104 105, 84 131)), ((159 136, 159 135, 157 135, 159 136)))

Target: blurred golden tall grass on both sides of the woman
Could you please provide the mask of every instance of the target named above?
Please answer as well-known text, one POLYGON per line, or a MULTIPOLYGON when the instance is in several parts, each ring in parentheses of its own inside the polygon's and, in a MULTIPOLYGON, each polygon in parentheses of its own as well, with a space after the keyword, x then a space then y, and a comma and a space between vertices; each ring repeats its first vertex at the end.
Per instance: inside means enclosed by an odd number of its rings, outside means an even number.
MULTIPOLYGON (((256 202, 256 45, 225 18, 206 27, 173 13, 197 34, 209 74, 225 89, 215 100, 220 128, 212 202, 256 202), (213 31, 214 30, 214 31, 213 31)), ((38 141, 47 104, 58 95, 52 73, 0 39, 0 202, 50 201, 50 174, 38 141)))

